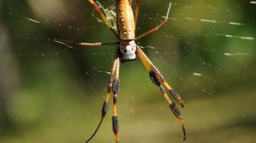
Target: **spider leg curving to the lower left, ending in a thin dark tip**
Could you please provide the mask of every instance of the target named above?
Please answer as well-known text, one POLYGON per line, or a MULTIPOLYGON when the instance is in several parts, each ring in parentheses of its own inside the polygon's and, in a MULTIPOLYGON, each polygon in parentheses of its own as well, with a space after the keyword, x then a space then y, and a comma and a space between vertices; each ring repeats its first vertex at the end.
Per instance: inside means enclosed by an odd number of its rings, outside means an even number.
POLYGON ((115 79, 115 73, 116 73, 116 66, 117 66, 117 62, 118 62, 119 58, 116 57, 116 59, 114 60, 113 66, 112 66, 112 70, 111 70, 111 74, 109 76, 109 82, 108 82, 108 87, 107 87, 107 93, 105 95, 105 100, 103 102, 103 108, 102 108, 102 116, 101 116, 101 120, 95 130, 95 132, 91 135, 91 137, 85 141, 85 143, 88 143, 95 134, 97 134, 97 130, 98 128, 100 128, 102 122, 103 122, 103 118, 106 116, 108 108, 109 108, 109 96, 110 96, 110 92, 111 92, 111 88, 113 86, 114 79, 115 79))

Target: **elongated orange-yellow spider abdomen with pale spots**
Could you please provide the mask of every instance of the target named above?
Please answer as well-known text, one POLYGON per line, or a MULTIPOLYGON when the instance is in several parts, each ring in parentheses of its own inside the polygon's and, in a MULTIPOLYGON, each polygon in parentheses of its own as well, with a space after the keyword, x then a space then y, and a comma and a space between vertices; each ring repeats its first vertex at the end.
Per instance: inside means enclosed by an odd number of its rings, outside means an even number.
POLYGON ((122 40, 132 40, 135 37, 134 13, 128 0, 116 2, 117 27, 122 40))

